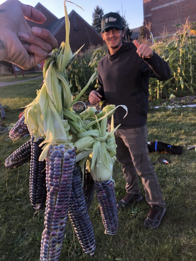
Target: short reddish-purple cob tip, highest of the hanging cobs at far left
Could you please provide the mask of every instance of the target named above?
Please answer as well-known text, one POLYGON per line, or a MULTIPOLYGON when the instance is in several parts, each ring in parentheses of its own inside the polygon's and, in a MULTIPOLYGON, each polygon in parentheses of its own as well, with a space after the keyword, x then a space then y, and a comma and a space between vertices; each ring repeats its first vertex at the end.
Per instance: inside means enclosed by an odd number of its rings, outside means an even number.
POLYGON ((25 116, 22 117, 14 124, 14 127, 9 132, 9 137, 12 140, 18 140, 23 137, 25 134, 28 134, 28 128, 25 124, 25 116))

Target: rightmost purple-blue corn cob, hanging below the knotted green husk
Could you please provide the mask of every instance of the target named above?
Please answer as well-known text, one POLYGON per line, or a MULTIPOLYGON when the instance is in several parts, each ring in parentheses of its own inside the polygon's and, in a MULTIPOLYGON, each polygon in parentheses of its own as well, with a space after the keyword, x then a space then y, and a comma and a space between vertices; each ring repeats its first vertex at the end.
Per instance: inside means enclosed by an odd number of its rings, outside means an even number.
POLYGON ((118 230, 118 211, 114 184, 112 181, 95 181, 95 190, 99 201, 105 234, 115 235, 118 230))

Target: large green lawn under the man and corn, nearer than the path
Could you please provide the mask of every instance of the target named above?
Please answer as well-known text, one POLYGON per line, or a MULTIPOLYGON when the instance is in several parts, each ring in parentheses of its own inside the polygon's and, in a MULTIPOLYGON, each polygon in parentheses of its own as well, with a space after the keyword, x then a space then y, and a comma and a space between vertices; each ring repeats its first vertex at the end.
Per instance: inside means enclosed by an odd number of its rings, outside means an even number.
MULTIPOLYGON (((9 106, 5 124, 11 126, 18 120, 22 109, 36 97, 40 79, 0 88, 0 102, 9 106)), ((149 110, 148 140, 158 140, 183 146, 182 155, 151 153, 151 161, 168 158, 169 165, 154 165, 166 202, 166 215, 158 229, 143 227, 149 206, 145 200, 119 211, 119 230, 112 238, 104 234, 96 197, 89 215, 94 228, 96 251, 86 256, 68 221, 60 261, 119 260, 119 261, 193 261, 196 260, 196 155, 187 150, 196 144, 195 108, 149 110)), ((40 241, 44 229, 44 209, 35 213, 30 205, 28 178, 29 163, 7 171, 7 158, 28 140, 8 139, 8 133, 0 134, 0 260, 38 261, 40 241)), ((116 198, 125 195, 125 180, 118 163, 114 165, 116 198)))

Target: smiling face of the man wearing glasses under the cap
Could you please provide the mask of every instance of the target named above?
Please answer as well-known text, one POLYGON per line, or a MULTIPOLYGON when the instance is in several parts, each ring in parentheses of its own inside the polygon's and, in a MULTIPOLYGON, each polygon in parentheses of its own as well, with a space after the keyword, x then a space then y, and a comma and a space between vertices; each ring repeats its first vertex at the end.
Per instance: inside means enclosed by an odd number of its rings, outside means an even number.
POLYGON ((118 28, 111 27, 106 29, 106 31, 108 31, 108 34, 105 34, 104 32, 101 33, 102 39, 106 42, 108 49, 113 49, 113 51, 117 51, 122 45, 122 37, 124 37, 125 34, 124 30, 119 30, 118 28))

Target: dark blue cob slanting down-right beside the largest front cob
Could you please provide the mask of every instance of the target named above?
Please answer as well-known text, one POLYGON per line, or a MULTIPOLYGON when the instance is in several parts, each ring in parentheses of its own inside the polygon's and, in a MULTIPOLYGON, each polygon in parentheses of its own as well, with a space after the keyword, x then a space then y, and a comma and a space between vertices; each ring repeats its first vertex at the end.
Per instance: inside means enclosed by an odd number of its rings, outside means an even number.
POLYGON ((95 236, 82 190, 80 168, 77 164, 75 164, 73 170, 71 204, 68 213, 74 231, 84 252, 93 256, 96 248, 95 236))

